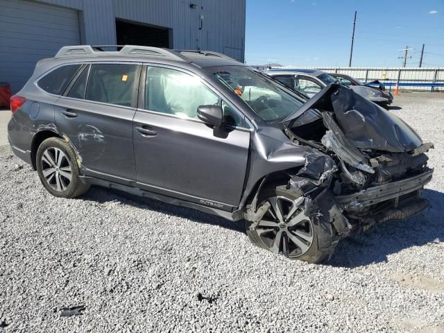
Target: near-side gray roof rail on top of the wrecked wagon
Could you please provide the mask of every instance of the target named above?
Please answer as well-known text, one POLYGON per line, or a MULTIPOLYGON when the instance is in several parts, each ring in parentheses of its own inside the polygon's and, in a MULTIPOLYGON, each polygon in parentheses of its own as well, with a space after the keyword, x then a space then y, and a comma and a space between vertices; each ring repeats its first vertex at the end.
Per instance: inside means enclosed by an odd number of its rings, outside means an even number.
POLYGON ((160 47, 151 46, 137 46, 137 45, 74 45, 74 46, 63 46, 55 58, 69 57, 69 56, 100 56, 103 54, 116 54, 121 55, 144 55, 144 56, 154 56, 168 58, 170 60, 186 61, 189 59, 182 56, 177 51, 162 49, 160 47), (103 51, 104 48, 114 47, 117 51, 103 51))

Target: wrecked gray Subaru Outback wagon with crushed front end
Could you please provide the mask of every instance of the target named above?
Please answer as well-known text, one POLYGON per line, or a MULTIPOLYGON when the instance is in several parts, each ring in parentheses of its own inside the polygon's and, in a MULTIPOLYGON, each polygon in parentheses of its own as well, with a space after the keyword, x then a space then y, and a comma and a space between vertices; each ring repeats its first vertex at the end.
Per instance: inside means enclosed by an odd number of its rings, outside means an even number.
POLYGON ((320 262, 427 207, 432 144, 349 87, 312 99, 220 53, 65 46, 11 99, 8 139, 54 196, 112 187, 233 221, 320 262))

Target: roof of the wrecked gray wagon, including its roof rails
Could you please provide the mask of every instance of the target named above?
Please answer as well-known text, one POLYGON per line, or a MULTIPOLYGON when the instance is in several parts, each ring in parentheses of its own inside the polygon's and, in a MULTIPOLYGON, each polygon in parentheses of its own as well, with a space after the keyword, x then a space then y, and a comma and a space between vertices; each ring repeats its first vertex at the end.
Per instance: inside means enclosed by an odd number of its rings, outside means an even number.
POLYGON ((137 45, 74 45, 63 46, 54 58, 138 58, 164 59, 194 63, 199 67, 244 65, 233 58, 214 51, 171 50, 137 45), (111 50, 110 49, 114 49, 111 50))

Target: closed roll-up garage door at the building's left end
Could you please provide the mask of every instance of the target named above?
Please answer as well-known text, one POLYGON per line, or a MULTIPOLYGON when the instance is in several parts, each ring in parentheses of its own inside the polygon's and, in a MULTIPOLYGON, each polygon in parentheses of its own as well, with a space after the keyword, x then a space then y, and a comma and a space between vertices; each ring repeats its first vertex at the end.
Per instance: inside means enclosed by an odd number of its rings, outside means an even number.
POLYGON ((22 89, 35 63, 80 44, 78 11, 24 0, 0 0, 0 82, 22 89))

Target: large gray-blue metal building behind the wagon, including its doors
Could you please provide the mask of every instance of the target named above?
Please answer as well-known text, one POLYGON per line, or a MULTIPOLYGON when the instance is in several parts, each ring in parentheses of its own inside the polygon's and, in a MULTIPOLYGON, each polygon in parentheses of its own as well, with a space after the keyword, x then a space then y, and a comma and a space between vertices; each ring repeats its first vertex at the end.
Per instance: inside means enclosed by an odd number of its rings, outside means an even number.
POLYGON ((0 0, 0 82, 12 94, 64 45, 138 44, 244 62, 246 0, 0 0))

